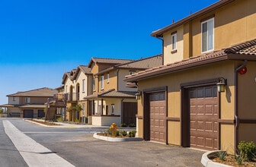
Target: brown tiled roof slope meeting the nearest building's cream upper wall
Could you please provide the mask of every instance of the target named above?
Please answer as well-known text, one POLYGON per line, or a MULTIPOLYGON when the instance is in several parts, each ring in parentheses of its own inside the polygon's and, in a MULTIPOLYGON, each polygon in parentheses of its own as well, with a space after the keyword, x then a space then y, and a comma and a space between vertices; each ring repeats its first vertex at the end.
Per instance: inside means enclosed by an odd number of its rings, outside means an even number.
POLYGON ((113 67, 100 71, 95 75, 103 74, 113 69, 122 68, 122 69, 130 69, 130 70, 146 70, 148 68, 157 67, 159 65, 162 65, 162 55, 154 55, 148 58, 141 58, 139 60, 127 62, 121 65, 114 65, 113 67))

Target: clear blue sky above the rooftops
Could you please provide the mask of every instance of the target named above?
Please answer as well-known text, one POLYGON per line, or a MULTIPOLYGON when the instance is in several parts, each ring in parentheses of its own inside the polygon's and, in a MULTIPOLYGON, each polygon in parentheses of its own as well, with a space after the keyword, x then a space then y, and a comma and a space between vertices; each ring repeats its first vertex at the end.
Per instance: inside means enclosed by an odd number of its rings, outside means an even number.
POLYGON ((162 52, 150 36, 218 0, 3 0, 0 104, 6 95, 61 86, 92 57, 146 58, 162 52))

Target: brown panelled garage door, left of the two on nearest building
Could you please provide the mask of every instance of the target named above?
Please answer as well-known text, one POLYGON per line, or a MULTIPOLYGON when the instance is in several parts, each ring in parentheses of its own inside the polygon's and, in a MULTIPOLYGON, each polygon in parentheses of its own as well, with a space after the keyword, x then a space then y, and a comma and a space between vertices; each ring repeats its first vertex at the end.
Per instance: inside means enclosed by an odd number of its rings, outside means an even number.
POLYGON ((165 92, 151 93, 150 106, 150 140, 166 143, 166 101, 165 92))

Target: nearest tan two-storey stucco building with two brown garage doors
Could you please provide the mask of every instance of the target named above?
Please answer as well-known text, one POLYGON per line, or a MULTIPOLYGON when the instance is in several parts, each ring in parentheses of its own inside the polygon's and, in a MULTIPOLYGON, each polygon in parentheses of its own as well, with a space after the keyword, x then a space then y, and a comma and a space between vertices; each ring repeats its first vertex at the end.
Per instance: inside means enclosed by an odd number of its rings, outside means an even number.
POLYGON ((125 79, 141 94, 139 137, 230 153, 256 142, 255 20, 256 1, 222 0, 152 32, 164 65, 125 79))

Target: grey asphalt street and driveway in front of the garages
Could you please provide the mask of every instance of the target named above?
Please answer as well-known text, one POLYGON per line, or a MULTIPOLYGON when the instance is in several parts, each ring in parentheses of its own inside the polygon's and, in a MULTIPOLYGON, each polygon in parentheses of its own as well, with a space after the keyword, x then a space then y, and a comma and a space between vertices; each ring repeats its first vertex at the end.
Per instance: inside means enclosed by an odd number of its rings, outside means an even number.
POLYGON ((204 152, 198 150, 148 141, 107 142, 92 137, 94 132, 104 131, 104 128, 49 128, 21 118, 0 119, 0 166, 27 166, 22 151, 19 152, 5 134, 4 120, 21 132, 16 132, 17 135, 25 134, 28 140, 35 140, 40 147, 48 149, 41 153, 44 156, 40 160, 43 165, 40 166, 47 166, 49 155, 53 154, 59 156, 56 159, 75 166, 202 166, 200 158, 204 152))

